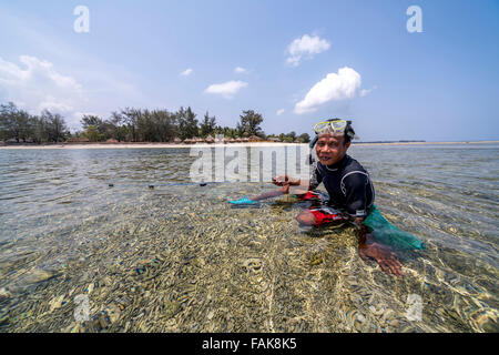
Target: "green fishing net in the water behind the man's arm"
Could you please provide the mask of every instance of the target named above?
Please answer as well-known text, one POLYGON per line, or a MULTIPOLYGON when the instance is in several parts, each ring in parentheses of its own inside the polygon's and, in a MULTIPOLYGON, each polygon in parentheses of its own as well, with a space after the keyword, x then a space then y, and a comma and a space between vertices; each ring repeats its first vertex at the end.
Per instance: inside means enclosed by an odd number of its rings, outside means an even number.
POLYGON ((376 240, 386 245, 403 250, 422 250, 425 243, 410 233, 398 230, 379 213, 375 205, 369 209, 369 214, 364 220, 364 225, 369 229, 376 240))

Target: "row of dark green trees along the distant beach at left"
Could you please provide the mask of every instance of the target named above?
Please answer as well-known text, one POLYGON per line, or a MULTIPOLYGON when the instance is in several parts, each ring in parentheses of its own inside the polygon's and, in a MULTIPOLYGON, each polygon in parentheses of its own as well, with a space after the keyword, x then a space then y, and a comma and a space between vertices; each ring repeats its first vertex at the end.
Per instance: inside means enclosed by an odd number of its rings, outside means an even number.
POLYGON ((198 121, 189 106, 175 112, 125 108, 111 113, 109 119, 85 114, 80 123, 82 131, 70 132, 64 118, 59 113, 43 110, 33 115, 19 109, 14 103, 0 104, 0 141, 16 143, 59 142, 174 142, 189 139, 216 136, 228 139, 257 136, 262 140, 281 142, 309 142, 307 133, 266 135, 261 129, 263 116, 254 110, 240 115, 235 128, 216 124, 216 118, 204 114, 198 121))

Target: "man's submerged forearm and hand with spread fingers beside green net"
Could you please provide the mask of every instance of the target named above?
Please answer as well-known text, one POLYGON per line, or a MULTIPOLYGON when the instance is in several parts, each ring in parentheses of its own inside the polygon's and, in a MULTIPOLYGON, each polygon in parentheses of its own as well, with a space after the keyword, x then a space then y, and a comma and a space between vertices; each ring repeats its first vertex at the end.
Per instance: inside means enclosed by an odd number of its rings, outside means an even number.
POLYGON ((401 271, 403 265, 398 261, 397 255, 389 247, 376 243, 373 235, 367 232, 366 226, 361 222, 361 219, 355 219, 355 224, 360 227, 358 245, 360 257, 363 260, 374 258, 388 275, 394 274, 399 277, 404 275, 401 271))

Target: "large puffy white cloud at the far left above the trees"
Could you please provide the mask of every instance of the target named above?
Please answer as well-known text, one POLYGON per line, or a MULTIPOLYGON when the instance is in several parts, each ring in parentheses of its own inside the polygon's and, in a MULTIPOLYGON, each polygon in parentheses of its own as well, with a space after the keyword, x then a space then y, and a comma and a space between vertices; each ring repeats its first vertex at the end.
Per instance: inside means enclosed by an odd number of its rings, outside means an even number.
POLYGON ((57 72, 51 62, 30 55, 21 55, 20 62, 23 65, 0 58, 0 87, 7 101, 32 113, 49 109, 63 114, 73 114, 86 101, 81 84, 57 72))

